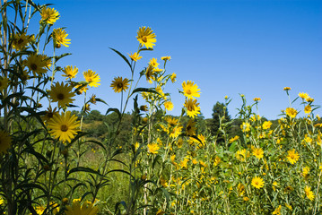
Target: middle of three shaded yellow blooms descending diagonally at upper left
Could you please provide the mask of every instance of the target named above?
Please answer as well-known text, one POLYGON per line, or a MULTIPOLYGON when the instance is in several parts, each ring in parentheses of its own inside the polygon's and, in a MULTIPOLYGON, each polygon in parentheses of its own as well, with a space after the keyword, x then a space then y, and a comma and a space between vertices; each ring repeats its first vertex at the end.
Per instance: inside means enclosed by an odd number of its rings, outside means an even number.
POLYGON ((47 62, 43 60, 43 56, 32 54, 25 60, 25 65, 29 71, 32 71, 34 76, 41 76, 43 73, 47 73, 47 62))

